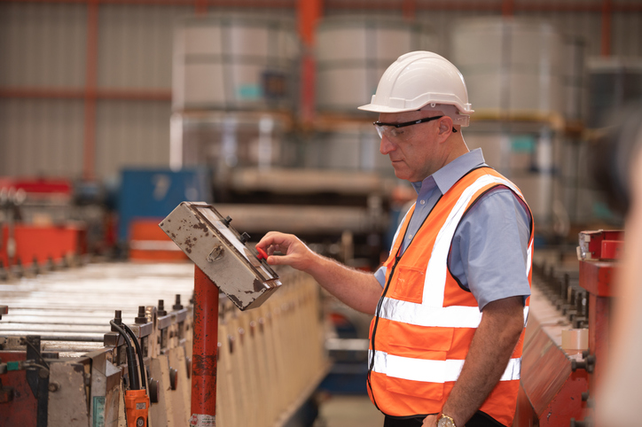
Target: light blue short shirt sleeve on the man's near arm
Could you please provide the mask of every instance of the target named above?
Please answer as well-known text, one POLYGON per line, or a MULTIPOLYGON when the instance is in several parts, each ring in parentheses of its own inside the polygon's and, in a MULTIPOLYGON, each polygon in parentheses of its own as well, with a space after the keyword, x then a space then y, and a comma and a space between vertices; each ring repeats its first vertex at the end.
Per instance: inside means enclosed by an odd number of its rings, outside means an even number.
POLYGON ((473 292, 480 311, 491 301, 530 295, 530 214, 512 190, 480 198, 459 222, 449 256, 450 273, 473 292))

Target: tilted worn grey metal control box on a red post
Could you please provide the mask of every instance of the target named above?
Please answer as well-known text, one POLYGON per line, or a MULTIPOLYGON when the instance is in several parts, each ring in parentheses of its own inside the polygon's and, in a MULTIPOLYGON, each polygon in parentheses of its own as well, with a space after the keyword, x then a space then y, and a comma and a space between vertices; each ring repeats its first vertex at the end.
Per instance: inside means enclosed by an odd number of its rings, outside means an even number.
POLYGON ((230 222, 207 203, 183 202, 159 226, 237 307, 259 307, 281 282, 230 222))

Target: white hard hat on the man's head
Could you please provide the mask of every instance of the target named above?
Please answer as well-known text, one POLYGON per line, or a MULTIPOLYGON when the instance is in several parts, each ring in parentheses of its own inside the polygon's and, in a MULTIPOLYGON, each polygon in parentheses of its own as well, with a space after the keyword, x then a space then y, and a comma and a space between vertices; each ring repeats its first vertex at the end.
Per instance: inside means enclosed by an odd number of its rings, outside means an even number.
POLYGON ((402 55, 388 66, 371 103, 360 106, 359 110, 403 113, 423 107, 438 110, 440 104, 454 105, 457 113, 447 115, 454 124, 468 126, 474 110, 468 103, 464 77, 448 59, 419 50, 402 55))

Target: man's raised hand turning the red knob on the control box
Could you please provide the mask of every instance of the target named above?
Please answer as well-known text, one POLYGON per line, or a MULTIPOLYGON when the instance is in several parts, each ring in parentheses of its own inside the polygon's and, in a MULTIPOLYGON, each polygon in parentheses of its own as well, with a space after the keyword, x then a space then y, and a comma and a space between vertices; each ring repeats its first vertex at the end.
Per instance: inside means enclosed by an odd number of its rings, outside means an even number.
POLYGON ((317 254, 310 251, 298 237, 292 234, 278 233, 270 231, 263 236, 261 241, 256 245, 267 252, 267 262, 270 265, 287 265, 297 270, 307 271, 315 262, 317 254), (284 253, 283 256, 275 256, 274 252, 284 253))

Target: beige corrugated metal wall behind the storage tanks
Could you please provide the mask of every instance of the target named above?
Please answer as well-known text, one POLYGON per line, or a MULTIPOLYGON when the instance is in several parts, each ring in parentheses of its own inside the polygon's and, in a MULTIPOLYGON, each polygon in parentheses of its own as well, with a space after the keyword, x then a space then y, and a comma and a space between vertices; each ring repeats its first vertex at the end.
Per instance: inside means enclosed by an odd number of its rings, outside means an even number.
MULTIPOLYGON (((279 7, 265 3, 270 7, 258 11, 296 16, 294 1, 279 7)), ((433 27, 436 50, 448 56, 453 22, 499 15, 506 3, 516 16, 549 19, 562 34, 583 36, 588 55, 600 54, 601 0, 325 0, 324 13, 403 15, 407 4, 414 4, 411 14, 433 27), (538 12, 545 9, 538 4, 554 10, 538 12)), ((642 57, 642 12, 618 12, 618 6, 633 4, 627 0, 611 4, 611 54, 642 57)), ((123 166, 168 164, 172 32, 175 19, 192 14, 194 3, 100 3, 97 94, 87 92, 88 8, 86 3, 0 1, 0 175, 81 177, 88 114, 96 118, 93 172, 98 179, 118 175, 123 166), (95 111, 86 111, 87 99, 95 99, 95 111)))

